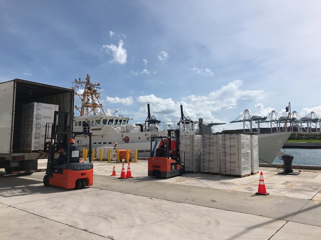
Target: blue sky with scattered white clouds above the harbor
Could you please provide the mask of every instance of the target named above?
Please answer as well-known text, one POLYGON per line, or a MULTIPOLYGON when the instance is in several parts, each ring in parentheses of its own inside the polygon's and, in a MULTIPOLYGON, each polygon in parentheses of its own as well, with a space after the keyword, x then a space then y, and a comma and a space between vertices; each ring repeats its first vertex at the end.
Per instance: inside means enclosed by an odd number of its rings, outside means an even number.
MULTIPOLYGON (((319 1, 0 0, 0 82, 70 88, 87 69, 104 108, 226 122, 245 109, 321 113, 319 1)), ((265 126, 265 125, 263 125, 265 126)))

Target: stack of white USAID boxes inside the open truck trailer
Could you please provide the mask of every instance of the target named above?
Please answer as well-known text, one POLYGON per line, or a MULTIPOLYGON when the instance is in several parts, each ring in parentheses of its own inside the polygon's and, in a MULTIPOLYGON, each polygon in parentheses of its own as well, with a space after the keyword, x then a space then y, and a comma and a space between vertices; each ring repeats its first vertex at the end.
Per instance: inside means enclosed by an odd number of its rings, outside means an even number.
MULTIPOLYGON (((22 106, 20 148, 26 151, 43 150, 46 137, 46 124, 51 128, 54 113, 59 106, 46 103, 27 103, 22 106)), ((49 129, 50 138, 51 129, 49 129)))

